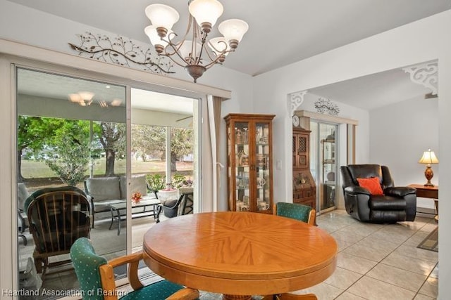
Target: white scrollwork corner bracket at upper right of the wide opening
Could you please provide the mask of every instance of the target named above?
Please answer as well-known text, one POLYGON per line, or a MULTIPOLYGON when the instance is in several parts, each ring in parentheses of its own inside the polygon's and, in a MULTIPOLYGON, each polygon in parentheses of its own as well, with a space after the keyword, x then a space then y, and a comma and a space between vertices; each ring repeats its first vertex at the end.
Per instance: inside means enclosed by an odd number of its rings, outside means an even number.
POLYGON ((438 63, 421 63, 412 67, 402 68, 404 72, 410 74, 410 80, 415 84, 431 90, 432 95, 437 95, 438 86, 438 63))

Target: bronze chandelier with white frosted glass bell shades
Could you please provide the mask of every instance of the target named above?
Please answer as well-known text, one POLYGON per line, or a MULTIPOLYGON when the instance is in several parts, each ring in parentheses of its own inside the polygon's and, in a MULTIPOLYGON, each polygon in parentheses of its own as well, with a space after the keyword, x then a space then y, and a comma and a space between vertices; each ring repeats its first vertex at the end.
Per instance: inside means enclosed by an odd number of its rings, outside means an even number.
POLYGON ((196 82, 206 70, 217 63, 222 64, 228 53, 235 51, 249 26, 243 20, 225 20, 218 26, 223 37, 207 39, 223 13, 222 4, 217 0, 191 0, 188 10, 190 20, 180 41, 175 41, 178 35, 171 30, 180 16, 174 8, 164 4, 147 6, 145 13, 152 25, 144 32, 156 53, 168 56, 176 65, 184 67, 196 82))

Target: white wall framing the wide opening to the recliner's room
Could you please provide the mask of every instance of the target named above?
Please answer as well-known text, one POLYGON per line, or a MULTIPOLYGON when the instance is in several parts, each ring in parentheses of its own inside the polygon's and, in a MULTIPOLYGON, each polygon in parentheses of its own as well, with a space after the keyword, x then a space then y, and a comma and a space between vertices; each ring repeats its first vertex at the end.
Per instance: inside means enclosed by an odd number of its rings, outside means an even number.
MULTIPOLYGON (((254 77, 254 110, 277 115, 274 122, 274 160, 282 160, 284 169, 278 174, 275 172, 275 195, 287 197, 291 193, 285 184, 291 168, 289 93, 438 59, 438 94, 442 99, 451 99, 451 85, 447 84, 451 82, 450 27, 451 11, 446 11, 254 77)), ((451 128, 450 101, 440 101, 438 111, 440 165, 451 165, 448 134, 451 128)), ((361 143, 362 134, 357 131, 357 144, 361 143)), ((445 184, 450 181, 451 169, 442 168, 440 198, 451 197, 451 186, 445 184)), ((451 202, 440 202, 440 211, 439 227, 450 227, 451 202)), ((440 235, 439 247, 439 294, 440 299, 445 299, 451 294, 451 287, 447 285, 451 282, 451 259, 447 256, 451 252, 451 240, 440 235)))

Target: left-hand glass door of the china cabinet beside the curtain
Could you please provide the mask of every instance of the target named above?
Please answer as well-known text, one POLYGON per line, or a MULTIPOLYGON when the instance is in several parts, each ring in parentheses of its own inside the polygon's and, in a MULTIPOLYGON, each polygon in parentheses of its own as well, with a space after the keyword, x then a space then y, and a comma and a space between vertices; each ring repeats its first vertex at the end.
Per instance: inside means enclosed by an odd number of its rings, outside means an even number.
POLYGON ((249 210, 249 123, 235 122, 235 200, 237 211, 249 210))

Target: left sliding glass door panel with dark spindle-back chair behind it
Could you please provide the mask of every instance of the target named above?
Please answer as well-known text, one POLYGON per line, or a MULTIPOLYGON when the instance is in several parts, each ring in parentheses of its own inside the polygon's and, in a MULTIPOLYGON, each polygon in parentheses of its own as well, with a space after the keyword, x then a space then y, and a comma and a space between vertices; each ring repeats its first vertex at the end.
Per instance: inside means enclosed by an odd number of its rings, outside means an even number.
MULTIPOLYGON (((120 181, 125 178, 127 164, 126 88, 20 67, 16 68, 16 84, 19 287, 74 289, 78 282, 70 265, 47 268, 47 263, 69 259, 73 241, 61 240, 61 231, 54 227, 69 230, 64 222, 75 222, 80 216, 68 218, 64 211, 53 208, 47 211, 47 220, 30 219, 27 207, 31 198, 27 200, 27 196, 66 186, 86 191, 89 178, 110 178, 117 186, 109 185, 111 181, 99 183, 92 191, 96 193, 94 203, 125 197, 120 181), (102 193, 104 199, 100 198, 102 193), (50 230, 50 240, 41 240, 46 230, 50 230), (51 250, 56 246, 57 252, 51 250), (34 268, 46 275, 33 274, 30 270, 34 268)), ((46 204, 39 209, 51 208, 46 204)), ((107 259, 125 254, 126 231, 117 235, 116 230, 109 230, 108 204, 94 210, 88 237, 96 252, 107 259)))

